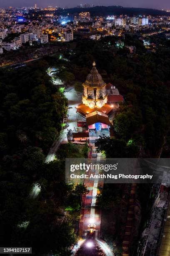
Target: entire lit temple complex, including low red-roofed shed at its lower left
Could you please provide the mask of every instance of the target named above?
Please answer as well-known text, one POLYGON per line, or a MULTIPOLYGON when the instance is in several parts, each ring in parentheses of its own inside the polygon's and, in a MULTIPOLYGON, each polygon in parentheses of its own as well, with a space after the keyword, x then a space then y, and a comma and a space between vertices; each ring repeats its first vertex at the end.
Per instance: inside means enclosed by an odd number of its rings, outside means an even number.
MULTIPOLYGON (((73 131, 67 134, 69 141, 82 141, 87 137, 114 136, 112 119, 123 102, 122 95, 112 84, 106 84, 102 76, 92 64, 92 70, 83 85, 82 103, 76 107, 77 113, 81 115, 77 121, 77 134, 73 131), (80 129, 81 128, 81 129, 80 129), (86 134, 85 134, 86 133, 86 134)), ((78 119, 78 118, 77 118, 78 119)))

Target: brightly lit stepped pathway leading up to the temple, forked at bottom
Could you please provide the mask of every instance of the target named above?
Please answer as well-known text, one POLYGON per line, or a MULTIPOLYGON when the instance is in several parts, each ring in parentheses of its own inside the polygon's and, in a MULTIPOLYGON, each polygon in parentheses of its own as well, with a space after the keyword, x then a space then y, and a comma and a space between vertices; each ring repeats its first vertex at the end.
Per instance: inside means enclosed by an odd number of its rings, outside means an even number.
MULTIPOLYGON (((95 153, 95 147, 92 146, 92 154, 95 153)), ((102 154, 96 154, 97 158, 88 159, 88 163, 91 163, 91 160, 93 161, 100 161, 103 158, 102 154)), ((90 174, 99 174, 98 170, 90 170, 90 174)), ((81 212, 80 212, 80 225, 79 225, 79 242, 77 245, 74 246, 72 249, 72 253, 75 254, 76 251, 80 248, 80 246, 85 242, 85 239, 87 239, 87 225, 89 224, 95 224, 96 225, 96 231, 95 231, 95 241, 97 242, 98 246, 105 252, 106 256, 114 256, 114 253, 110 249, 110 247, 107 245, 105 241, 100 239, 100 224, 101 224, 101 207, 96 205, 96 195, 100 194, 103 189, 103 182, 98 179, 84 180, 85 186, 87 186, 87 189, 89 190, 89 193, 87 195, 82 195, 82 205, 81 205, 81 212)))

